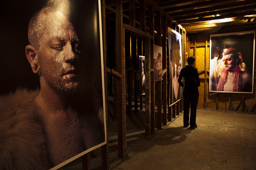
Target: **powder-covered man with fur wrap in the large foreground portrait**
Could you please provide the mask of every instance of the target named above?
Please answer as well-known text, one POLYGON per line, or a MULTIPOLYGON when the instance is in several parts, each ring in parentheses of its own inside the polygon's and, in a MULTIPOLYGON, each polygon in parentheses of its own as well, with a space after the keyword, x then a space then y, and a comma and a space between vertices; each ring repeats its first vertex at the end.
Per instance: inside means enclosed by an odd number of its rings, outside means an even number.
POLYGON ((25 53, 40 87, 0 96, 3 169, 49 169, 105 140, 102 98, 79 76, 86 56, 70 13, 69 1, 50 0, 29 21, 25 53))

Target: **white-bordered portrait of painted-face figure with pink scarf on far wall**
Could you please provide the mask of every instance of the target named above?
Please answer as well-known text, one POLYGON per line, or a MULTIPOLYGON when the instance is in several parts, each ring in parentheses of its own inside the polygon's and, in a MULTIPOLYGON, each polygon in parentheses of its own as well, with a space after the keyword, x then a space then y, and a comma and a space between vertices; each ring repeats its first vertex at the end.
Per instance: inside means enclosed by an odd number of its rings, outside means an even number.
POLYGON ((210 36, 210 92, 253 93, 255 32, 210 36))

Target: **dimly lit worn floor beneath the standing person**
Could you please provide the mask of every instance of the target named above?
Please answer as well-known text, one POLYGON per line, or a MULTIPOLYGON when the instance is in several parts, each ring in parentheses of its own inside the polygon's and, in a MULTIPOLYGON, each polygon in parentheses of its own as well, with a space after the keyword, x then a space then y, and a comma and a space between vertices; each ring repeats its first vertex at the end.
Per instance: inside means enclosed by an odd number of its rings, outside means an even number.
POLYGON ((255 114, 198 109, 196 123, 196 129, 184 128, 178 116, 153 138, 133 141, 128 157, 110 168, 256 169, 255 114))

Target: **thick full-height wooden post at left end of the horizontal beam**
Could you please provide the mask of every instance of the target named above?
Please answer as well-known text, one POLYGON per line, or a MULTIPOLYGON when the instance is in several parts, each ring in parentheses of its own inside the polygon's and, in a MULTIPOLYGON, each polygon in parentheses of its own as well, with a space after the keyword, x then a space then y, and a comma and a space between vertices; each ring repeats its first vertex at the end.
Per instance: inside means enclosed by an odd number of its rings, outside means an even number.
MULTIPOLYGON (((126 149, 126 114, 125 114, 125 56, 122 0, 116 0, 116 71, 122 78, 115 80, 117 129, 118 129, 118 157, 125 157, 126 149)), ((114 96, 115 97, 115 96, 114 96)))

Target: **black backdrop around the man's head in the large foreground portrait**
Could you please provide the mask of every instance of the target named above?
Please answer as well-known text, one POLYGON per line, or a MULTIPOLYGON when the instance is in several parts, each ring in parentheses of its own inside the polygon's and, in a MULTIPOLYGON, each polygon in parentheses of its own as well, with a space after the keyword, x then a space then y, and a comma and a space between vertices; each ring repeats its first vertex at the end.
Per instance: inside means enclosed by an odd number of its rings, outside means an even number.
MULTIPOLYGON (((25 55, 28 45, 28 22, 46 0, 4 0, 0 2, 1 62, 0 94, 17 88, 36 89, 37 74, 32 72, 25 55)), ((79 46, 79 76, 94 87, 102 99, 100 31, 98 1, 71 1, 79 46)), ((85 87, 85 86, 84 86, 85 87)))

